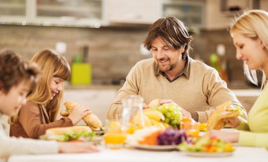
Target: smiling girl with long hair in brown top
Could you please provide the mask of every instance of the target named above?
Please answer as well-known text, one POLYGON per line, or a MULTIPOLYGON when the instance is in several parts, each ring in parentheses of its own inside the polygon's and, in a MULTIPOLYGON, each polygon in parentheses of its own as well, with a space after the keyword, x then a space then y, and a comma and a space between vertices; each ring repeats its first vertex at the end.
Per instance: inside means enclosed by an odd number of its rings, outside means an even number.
POLYGON ((90 113, 87 107, 78 105, 68 117, 56 120, 64 82, 71 75, 70 65, 60 54, 50 49, 37 52, 31 62, 40 66, 42 78, 28 94, 26 105, 10 118, 10 136, 38 139, 47 129, 76 125, 90 113))

